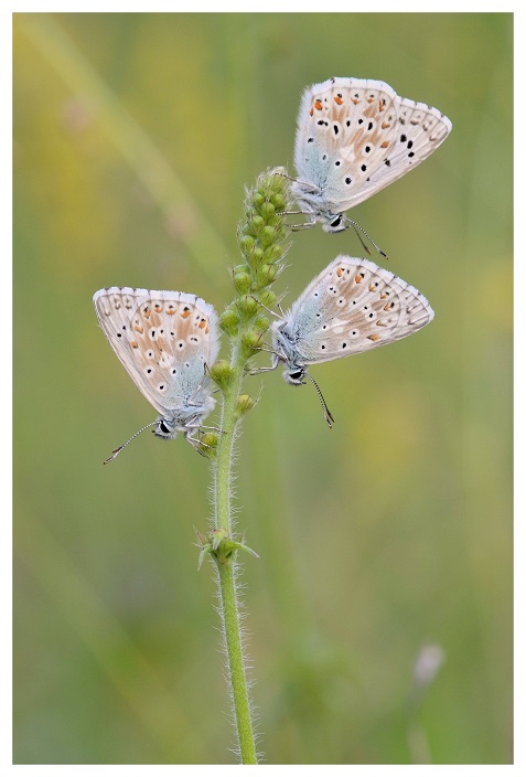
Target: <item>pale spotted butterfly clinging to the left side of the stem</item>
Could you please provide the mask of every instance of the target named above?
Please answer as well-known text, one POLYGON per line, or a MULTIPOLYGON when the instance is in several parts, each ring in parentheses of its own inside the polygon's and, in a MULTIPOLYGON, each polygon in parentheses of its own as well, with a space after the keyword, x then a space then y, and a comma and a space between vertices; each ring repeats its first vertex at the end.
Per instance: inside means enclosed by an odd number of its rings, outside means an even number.
POLYGON ((93 301, 109 344, 159 413, 143 428, 154 426, 153 433, 161 439, 174 439, 182 433, 197 447, 195 434, 215 405, 212 380, 206 374, 219 348, 217 315, 212 305, 182 291, 118 286, 100 289, 93 301))

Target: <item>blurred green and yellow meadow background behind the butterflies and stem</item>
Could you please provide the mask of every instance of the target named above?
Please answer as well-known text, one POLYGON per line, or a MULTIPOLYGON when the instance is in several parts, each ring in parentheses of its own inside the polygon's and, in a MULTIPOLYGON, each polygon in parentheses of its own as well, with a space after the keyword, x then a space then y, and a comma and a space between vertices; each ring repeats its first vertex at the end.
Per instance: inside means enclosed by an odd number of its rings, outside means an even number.
MULTIPOLYGON (((244 187, 292 172, 302 89, 333 75, 384 79, 453 123, 352 212, 436 320, 312 370, 332 432, 280 371, 246 418, 260 749, 512 760, 512 62, 504 13, 15 14, 15 763, 232 763, 193 546, 207 465, 144 434, 101 466, 154 412, 92 295, 169 288, 221 311, 244 187), (417 688, 429 645, 443 662, 417 688)), ((351 232, 294 235, 286 304, 341 252, 362 254, 351 232)))

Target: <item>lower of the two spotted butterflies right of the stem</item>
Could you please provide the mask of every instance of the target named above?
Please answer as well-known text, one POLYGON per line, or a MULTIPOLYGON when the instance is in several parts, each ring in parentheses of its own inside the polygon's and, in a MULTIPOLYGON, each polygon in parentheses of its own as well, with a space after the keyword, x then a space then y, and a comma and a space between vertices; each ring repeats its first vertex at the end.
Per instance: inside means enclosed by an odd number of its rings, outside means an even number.
POLYGON ((276 370, 282 362, 287 383, 301 385, 309 377, 332 426, 334 418, 308 368, 401 340, 433 317, 414 286, 369 259, 340 255, 272 323, 272 364, 254 372, 276 370))

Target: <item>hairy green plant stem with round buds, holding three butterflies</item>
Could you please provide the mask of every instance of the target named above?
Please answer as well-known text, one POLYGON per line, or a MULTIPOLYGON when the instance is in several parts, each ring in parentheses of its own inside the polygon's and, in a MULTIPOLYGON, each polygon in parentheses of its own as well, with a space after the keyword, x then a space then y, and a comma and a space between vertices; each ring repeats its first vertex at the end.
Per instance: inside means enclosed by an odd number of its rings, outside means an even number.
MULTIPOLYGON (((233 715, 243 764, 257 764, 236 586, 237 553, 250 549, 243 541, 236 541, 233 534, 232 469, 236 427, 254 406, 250 396, 241 395, 245 370, 269 328, 269 321, 261 311, 276 301, 270 286, 282 268, 286 252, 282 245, 286 230, 280 215, 281 211, 288 210, 286 187, 282 175, 269 171, 261 174, 256 187, 247 192, 246 219, 238 230, 239 248, 245 262, 233 270, 236 297, 221 317, 221 327, 230 340, 230 359, 229 362, 215 362, 211 370, 212 377, 223 392, 223 411, 221 433, 211 455, 214 466, 214 526, 207 536, 200 536, 201 558, 210 553, 217 567, 233 715)), ((202 453, 210 455, 206 450, 202 453)))

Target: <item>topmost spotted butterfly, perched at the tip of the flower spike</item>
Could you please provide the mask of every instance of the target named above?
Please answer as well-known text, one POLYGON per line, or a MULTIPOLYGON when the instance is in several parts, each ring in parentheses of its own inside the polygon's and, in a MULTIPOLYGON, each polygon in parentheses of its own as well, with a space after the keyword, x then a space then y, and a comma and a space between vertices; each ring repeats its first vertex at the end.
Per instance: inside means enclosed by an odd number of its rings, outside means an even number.
POLYGON ((358 226, 345 212, 420 164, 451 128, 437 108, 399 97, 382 81, 330 78, 308 87, 296 135, 299 179, 291 184, 297 213, 308 221, 292 228, 358 226))

